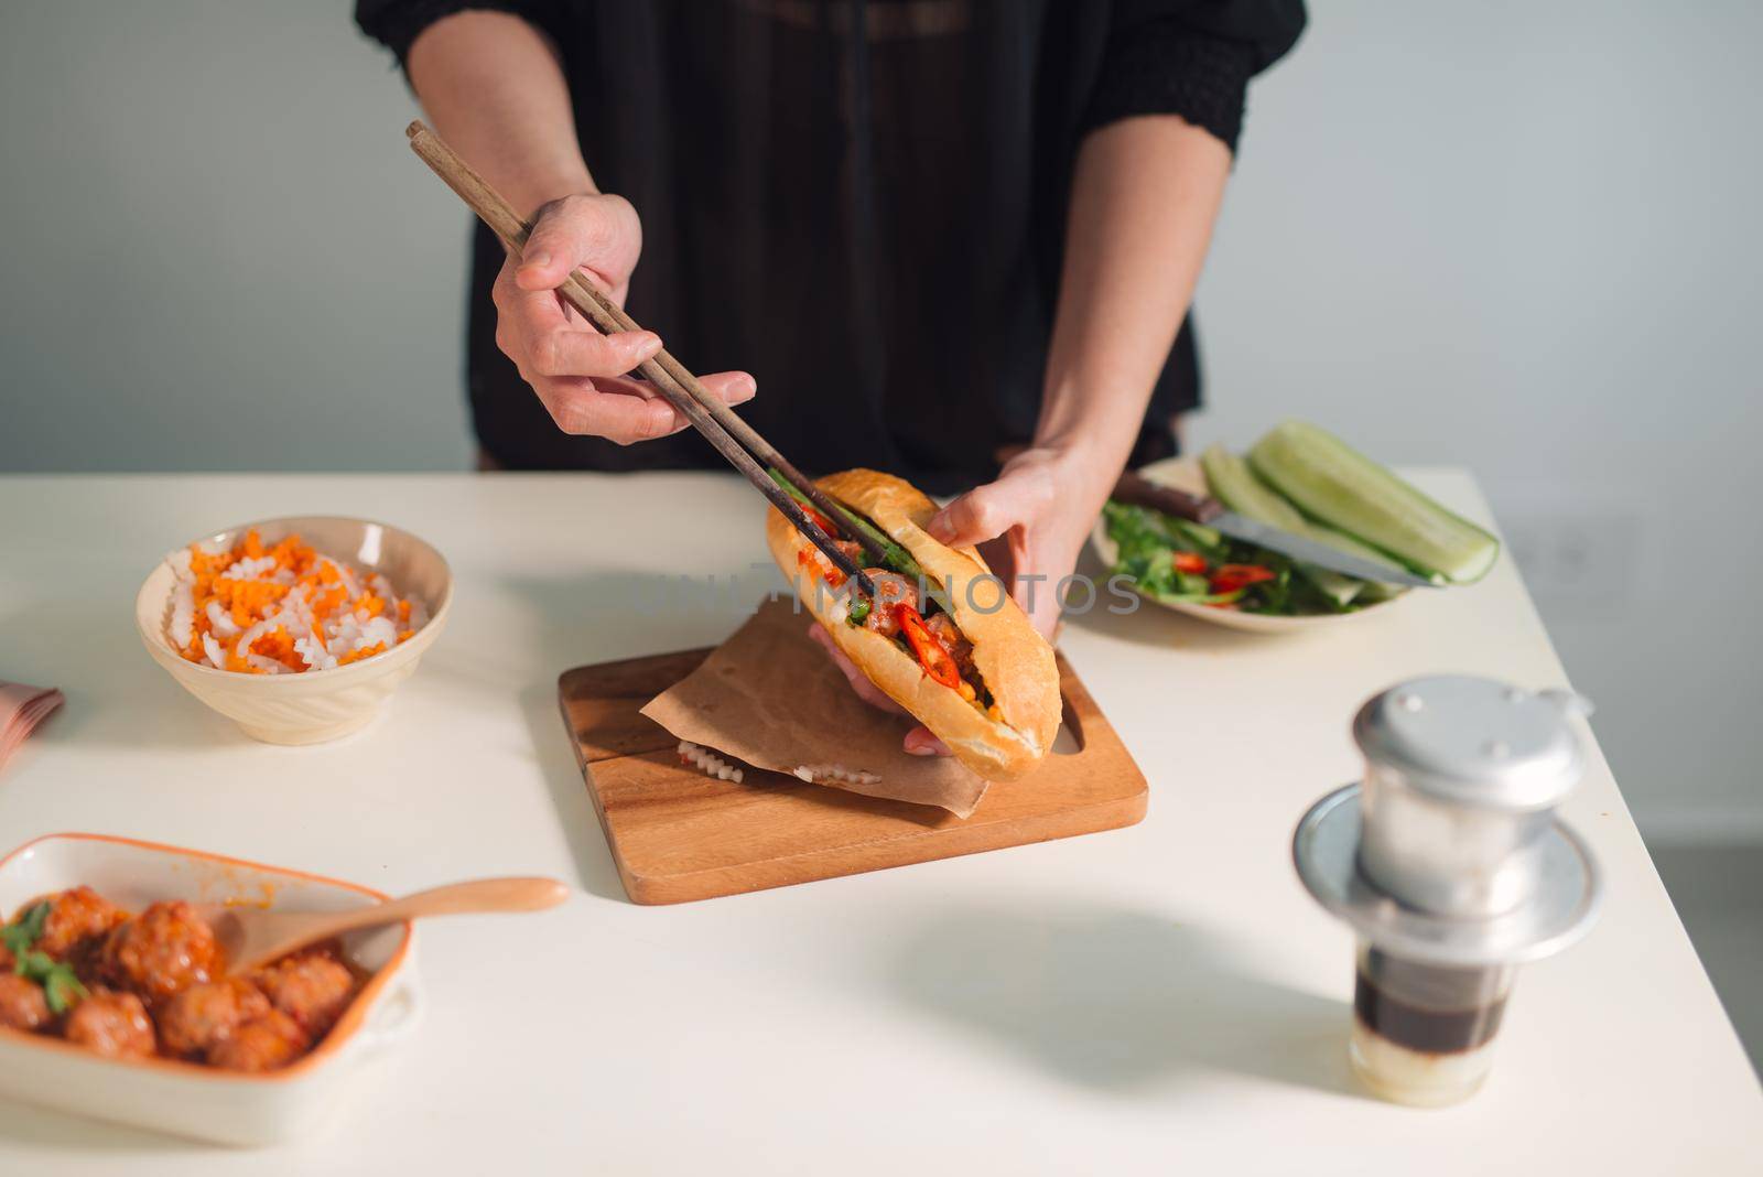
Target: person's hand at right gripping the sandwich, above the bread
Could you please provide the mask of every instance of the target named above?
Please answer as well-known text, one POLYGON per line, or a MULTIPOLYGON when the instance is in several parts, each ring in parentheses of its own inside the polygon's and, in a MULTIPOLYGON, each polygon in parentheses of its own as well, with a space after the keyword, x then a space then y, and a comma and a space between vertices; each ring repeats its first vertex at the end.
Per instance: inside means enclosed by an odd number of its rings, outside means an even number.
POLYGON ((1010 585, 1047 641, 1060 624, 1060 581, 1107 500, 1118 470, 1081 449, 1024 449, 998 472, 936 513, 926 530, 950 548, 986 544, 986 560, 1010 585), (989 543, 998 541, 998 543, 989 543))

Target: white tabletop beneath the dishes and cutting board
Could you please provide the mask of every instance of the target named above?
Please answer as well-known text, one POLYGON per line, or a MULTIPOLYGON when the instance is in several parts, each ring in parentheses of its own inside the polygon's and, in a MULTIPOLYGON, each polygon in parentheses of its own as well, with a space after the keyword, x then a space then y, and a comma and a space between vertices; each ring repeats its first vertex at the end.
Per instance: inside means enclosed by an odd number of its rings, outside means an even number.
MULTIPOLYGON (((1465 474, 1416 479, 1486 520, 1465 474)), ((0 775, 5 848, 92 830, 388 892, 578 888, 428 925, 427 1024, 319 1140, 233 1152, 0 1105, 0 1173, 1763 1172, 1758 1080, 1596 752, 1566 816, 1604 918, 1520 974, 1484 1091, 1419 1112, 1349 1077, 1350 937, 1298 885, 1292 826, 1354 777, 1373 691, 1566 682, 1509 560, 1296 640, 1153 608, 1068 624, 1151 782, 1130 830, 633 906, 557 675, 721 640, 774 583, 756 560, 760 502, 721 476, 0 477, 0 677, 67 692, 0 775), (383 719, 282 749, 150 663, 132 601, 167 548, 300 513, 414 530, 457 599, 383 719), (709 573, 737 590, 661 592, 709 573)))

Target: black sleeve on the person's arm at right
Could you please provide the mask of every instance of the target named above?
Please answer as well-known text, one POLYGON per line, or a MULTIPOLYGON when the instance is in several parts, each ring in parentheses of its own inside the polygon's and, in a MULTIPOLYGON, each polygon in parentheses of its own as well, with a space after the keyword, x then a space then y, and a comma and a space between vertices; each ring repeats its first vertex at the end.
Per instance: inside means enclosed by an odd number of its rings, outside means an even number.
POLYGON ((1179 115, 1236 152, 1248 79, 1303 30, 1303 0, 1118 0, 1082 130, 1179 115))

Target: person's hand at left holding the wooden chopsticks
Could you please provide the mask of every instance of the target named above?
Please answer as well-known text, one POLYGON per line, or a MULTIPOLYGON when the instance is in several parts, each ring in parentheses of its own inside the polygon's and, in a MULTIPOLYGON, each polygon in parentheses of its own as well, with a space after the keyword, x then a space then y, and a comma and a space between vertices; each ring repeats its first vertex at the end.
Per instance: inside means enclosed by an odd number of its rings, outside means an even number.
MULTIPOLYGON (((582 270, 622 307, 642 247, 642 222, 622 196, 566 196, 539 208, 525 252, 510 255, 495 275, 495 345, 564 433, 628 446, 688 425, 652 384, 626 375, 661 351, 661 338, 654 331, 601 335, 557 294, 582 270)), ((730 405, 756 391, 746 372, 698 379, 730 405)))

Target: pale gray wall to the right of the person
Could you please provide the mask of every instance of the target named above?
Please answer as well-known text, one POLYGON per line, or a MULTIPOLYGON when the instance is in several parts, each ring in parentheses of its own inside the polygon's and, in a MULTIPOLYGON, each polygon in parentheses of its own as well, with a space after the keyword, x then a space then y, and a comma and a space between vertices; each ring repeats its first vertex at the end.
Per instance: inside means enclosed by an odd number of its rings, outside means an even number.
POLYGON ((1252 95, 1199 435, 1474 467, 1647 832, 1763 839, 1763 5, 1313 7, 1252 95))

